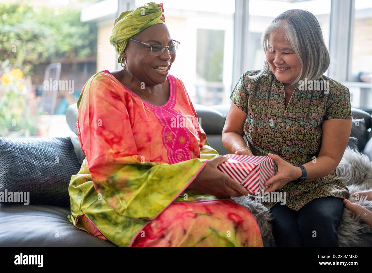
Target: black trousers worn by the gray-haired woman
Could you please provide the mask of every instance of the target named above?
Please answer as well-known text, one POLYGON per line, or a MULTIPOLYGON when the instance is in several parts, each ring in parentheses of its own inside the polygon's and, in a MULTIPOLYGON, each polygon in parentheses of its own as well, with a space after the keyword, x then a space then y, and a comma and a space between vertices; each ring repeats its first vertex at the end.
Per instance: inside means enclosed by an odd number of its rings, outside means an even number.
POLYGON ((311 200, 298 211, 279 202, 270 213, 277 247, 339 247, 336 228, 344 211, 343 198, 311 200))

